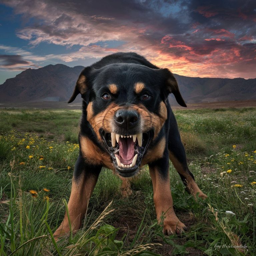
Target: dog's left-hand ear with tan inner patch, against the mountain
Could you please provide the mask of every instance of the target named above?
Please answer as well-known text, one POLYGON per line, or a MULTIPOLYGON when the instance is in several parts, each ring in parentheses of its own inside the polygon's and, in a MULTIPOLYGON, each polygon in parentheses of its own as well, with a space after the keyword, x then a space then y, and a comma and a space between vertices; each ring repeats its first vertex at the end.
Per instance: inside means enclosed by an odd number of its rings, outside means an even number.
POLYGON ((83 99, 86 98, 86 95, 88 95, 89 93, 89 87, 88 87, 88 78, 87 78, 87 68, 85 68, 81 74, 79 75, 77 82, 76 82, 76 86, 74 88, 73 94, 70 97, 68 103, 71 103, 72 101, 75 100, 76 96, 80 93, 81 97, 83 99))

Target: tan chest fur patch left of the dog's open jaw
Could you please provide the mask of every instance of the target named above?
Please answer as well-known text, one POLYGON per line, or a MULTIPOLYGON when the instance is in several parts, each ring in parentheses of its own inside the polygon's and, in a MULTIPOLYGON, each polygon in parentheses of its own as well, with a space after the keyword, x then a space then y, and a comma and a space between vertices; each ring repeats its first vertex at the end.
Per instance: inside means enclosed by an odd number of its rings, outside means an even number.
POLYGON ((113 169, 113 163, 108 153, 103 152, 88 137, 80 136, 80 146, 83 158, 94 165, 103 165, 109 169, 113 169))

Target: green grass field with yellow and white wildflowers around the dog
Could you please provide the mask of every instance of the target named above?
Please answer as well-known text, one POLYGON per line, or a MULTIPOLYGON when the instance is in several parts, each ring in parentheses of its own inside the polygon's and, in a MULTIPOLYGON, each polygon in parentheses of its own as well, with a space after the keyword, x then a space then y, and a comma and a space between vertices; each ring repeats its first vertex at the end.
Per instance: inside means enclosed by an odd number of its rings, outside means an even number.
POLYGON ((103 169, 81 230, 55 243, 81 111, 1 110, 0 256, 256 255, 256 109, 174 113, 190 170, 208 195, 203 201, 185 192, 170 164, 174 208, 189 231, 162 234, 147 166, 132 179, 128 198, 121 180, 103 169))

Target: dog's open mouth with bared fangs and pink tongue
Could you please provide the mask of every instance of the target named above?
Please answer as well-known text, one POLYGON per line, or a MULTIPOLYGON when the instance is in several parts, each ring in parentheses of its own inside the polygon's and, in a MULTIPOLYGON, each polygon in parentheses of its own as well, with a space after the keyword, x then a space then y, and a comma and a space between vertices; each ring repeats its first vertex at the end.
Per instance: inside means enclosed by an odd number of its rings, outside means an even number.
POLYGON ((100 130, 100 134, 119 174, 123 177, 135 175, 151 141, 152 132, 120 135, 100 130))

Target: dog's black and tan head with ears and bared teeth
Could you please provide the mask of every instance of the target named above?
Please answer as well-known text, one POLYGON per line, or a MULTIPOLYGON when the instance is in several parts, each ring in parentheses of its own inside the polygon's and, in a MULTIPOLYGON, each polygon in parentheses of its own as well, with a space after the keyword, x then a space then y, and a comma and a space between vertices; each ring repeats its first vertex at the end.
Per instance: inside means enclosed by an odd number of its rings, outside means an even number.
POLYGON ((162 129, 169 93, 186 106, 168 69, 139 64, 87 67, 81 72, 69 103, 79 93, 86 103, 87 121, 123 177, 136 174, 150 142, 162 129))

